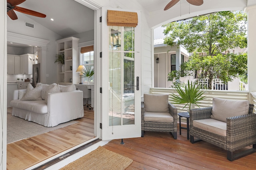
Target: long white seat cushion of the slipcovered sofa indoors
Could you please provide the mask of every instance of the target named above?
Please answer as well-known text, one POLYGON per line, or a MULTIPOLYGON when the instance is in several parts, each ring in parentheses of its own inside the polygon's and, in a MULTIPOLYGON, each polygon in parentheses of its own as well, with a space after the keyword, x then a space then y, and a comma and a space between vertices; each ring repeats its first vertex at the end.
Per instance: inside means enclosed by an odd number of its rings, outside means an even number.
POLYGON ((22 100, 12 100, 10 102, 12 107, 17 107, 19 109, 24 109, 28 111, 33 111, 35 113, 45 114, 47 113, 47 104, 44 100, 37 101, 22 101, 22 100))

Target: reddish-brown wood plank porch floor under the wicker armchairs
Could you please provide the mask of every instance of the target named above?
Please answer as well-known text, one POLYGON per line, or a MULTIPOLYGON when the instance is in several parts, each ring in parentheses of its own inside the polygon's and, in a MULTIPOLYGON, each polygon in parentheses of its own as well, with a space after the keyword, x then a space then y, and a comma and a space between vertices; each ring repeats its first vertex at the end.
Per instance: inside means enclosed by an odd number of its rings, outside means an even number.
MULTIPOLYGON (((179 125, 178 125, 179 127, 179 125)), ((145 132, 144 137, 112 140, 103 146, 133 160, 126 170, 255 170, 256 152, 230 162, 226 151, 204 141, 190 143, 186 130, 178 139, 169 133, 145 132)))

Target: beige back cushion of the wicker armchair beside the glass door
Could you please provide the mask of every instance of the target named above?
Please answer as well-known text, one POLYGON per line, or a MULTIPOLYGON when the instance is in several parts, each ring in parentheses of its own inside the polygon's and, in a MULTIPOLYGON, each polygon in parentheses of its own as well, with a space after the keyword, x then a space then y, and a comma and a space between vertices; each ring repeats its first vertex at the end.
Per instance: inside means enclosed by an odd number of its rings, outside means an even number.
POLYGON ((168 94, 144 94, 144 110, 149 112, 169 112, 168 94))

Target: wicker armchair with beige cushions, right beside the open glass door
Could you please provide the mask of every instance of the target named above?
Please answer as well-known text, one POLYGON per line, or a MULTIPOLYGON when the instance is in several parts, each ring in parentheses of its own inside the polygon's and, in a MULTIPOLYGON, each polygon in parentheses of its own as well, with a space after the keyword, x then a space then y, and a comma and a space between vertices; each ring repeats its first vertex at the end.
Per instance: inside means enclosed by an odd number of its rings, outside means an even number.
POLYGON ((168 102, 168 94, 144 94, 144 102, 141 104, 141 136, 144 136, 144 131, 169 132, 172 133, 174 139, 177 139, 177 108, 168 102), (159 99, 160 96, 166 100, 159 99), (148 100, 151 102, 147 104, 148 100), (163 112, 159 106, 167 107, 167 111, 163 112), (151 109, 154 107, 154 109, 150 110, 149 107, 151 109))

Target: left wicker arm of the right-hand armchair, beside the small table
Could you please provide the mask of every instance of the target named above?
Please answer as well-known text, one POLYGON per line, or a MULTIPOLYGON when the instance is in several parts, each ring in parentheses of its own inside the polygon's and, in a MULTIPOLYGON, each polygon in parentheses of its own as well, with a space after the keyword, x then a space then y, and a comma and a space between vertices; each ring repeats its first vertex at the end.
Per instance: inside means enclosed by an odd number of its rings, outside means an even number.
POLYGON ((189 111, 190 121, 200 120, 200 119, 210 119, 211 114, 212 114, 212 107, 190 109, 189 111))

